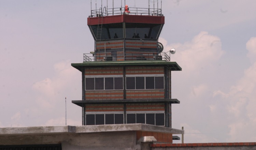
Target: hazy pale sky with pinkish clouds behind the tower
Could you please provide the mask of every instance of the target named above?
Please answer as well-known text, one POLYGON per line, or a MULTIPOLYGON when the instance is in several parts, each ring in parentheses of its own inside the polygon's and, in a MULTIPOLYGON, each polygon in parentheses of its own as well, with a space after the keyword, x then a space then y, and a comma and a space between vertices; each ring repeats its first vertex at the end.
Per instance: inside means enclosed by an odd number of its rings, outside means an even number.
MULTIPOLYGON (((126 4, 147 8, 148 0, 126 4)), ((182 67, 172 72, 180 101, 172 128, 184 126, 184 142, 256 142, 255 6, 162 0, 159 42, 168 54, 176 49, 171 61, 182 67)), ((89 0, 0 0, 0 127, 65 125, 65 97, 67 125, 82 125, 82 109, 71 103, 82 100, 82 76, 71 63, 94 50, 89 15, 89 0)))

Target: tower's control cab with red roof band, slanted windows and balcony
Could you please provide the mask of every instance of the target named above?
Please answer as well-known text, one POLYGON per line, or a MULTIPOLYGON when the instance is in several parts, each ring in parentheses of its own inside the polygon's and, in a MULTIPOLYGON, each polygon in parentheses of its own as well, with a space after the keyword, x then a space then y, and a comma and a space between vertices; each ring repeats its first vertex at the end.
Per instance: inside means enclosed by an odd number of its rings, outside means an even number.
POLYGON ((91 52, 94 57, 85 55, 85 61, 168 59, 158 43, 165 24, 161 9, 104 7, 91 10, 87 24, 95 40, 95 50, 91 52))

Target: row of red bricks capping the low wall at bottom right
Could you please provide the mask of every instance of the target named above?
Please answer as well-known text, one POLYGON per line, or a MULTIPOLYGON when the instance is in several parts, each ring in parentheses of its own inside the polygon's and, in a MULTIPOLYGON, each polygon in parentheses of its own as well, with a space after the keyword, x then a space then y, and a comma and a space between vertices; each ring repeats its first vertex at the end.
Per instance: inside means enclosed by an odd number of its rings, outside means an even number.
POLYGON ((253 146, 256 148, 256 142, 236 142, 236 143, 187 143, 187 144, 151 144, 151 147, 212 147, 212 146, 253 146))

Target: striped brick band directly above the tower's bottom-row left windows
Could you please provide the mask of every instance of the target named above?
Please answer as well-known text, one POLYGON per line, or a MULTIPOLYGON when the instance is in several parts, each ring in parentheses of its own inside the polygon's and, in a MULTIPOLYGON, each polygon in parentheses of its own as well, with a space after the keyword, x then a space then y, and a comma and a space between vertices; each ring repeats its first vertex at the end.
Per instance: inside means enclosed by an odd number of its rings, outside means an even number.
POLYGON ((87 104, 85 106, 85 112, 114 112, 124 111, 123 104, 87 104))

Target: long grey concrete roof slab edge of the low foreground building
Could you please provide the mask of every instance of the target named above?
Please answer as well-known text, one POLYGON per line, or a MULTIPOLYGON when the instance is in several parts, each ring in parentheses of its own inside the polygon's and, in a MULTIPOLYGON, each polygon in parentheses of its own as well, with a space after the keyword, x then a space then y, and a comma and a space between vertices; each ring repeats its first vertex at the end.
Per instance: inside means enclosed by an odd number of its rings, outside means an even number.
POLYGON ((150 131, 172 134, 183 134, 184 130, 149 124, 111 124, 111 125, 87 125, 87 126, 34 126, 34 127, 3 127, 0 128, 2 135, 19 134, 56 134, 56 133, 95 133, 113 131, 150 131))

